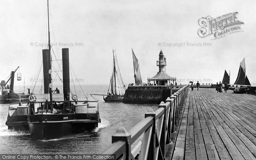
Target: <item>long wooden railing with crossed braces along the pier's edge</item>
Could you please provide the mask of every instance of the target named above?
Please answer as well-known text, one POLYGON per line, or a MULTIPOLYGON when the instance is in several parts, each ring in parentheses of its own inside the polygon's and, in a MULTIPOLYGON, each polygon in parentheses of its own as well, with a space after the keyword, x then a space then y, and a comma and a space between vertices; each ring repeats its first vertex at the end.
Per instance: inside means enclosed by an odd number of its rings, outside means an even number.
POLYGON ((168 97, 166 103, 161 102, 157 111, 149 109, 145 119, 130 131, 118 128, 112 136, 112 145, 103 154, 115 155, 116 160, 166 159, 167 145, 171 143, 172 132, 188 91, 189 85, 186 85, 168 97), (135 146, 132 148, 131 145, 135 146))

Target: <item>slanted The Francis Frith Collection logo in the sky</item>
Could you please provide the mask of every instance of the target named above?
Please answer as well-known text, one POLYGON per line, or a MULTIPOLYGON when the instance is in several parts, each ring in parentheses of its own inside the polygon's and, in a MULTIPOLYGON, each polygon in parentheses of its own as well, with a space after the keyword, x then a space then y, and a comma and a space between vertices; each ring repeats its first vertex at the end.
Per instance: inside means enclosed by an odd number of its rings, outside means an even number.
POLYGON ((244 22, 236 17, 238 12, 228 13, 216 18, 211 16, 202 17, 198 20, 200 29, 198 36, 201 38, 213 35, 213 39, 224 37, 230 33, 242 32, 241 24, 244 22))

